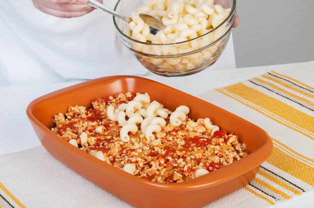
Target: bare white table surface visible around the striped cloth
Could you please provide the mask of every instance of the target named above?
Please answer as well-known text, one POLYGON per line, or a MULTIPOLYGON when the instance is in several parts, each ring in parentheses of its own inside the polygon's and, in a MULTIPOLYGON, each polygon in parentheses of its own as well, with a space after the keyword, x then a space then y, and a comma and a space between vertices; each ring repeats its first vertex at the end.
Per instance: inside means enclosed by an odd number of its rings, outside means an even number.
MULTIPOLYGON (((287 64, 220 70, 208 68, 189 76, 163 77, 152 74, 144 77, 192 95, 199 95, 214 88, 262 75, 285 65, 287 64)), ((2 98, 0 102, 0 154, 17 152, 41 145, 27 118, 27 105, 41 95, 75 83, 78 82, 0 86, 0 97, 2 98)), ((314 191, 275 205, 275 207, 312 207, 311 204, 314 204, 314 191)))

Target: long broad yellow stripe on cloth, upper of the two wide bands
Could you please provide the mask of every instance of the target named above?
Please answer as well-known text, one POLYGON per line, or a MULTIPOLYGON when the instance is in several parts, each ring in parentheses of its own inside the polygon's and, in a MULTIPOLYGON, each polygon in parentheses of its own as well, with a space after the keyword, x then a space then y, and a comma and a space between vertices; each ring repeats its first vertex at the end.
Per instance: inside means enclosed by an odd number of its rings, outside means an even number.
POLYGON ((216 90, 314 140, 314 117, 241 82, 216 90))

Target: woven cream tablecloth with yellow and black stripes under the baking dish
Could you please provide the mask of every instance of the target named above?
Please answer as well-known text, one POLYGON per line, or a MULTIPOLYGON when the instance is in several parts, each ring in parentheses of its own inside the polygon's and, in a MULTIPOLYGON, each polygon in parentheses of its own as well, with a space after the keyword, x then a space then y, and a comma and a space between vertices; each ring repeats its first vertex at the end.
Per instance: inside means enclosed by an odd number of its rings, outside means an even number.
MULTIPOLYGON (((205 207, 270 207, 314 190, 314 61, 198 97, 260 126, 274 144, 248 185, 205 207)), ((0 155, 0 164, 0 207, 130 207, 43 146, 0 155)))

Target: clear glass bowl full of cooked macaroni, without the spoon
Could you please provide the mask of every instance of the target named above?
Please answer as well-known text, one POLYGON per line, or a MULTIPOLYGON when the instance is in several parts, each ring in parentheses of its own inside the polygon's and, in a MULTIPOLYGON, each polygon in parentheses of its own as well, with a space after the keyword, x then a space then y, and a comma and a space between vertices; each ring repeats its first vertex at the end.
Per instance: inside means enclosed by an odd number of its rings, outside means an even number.
POLYGON ((118 0, 113 17, 118 36, 148 70, 163 76, 189 75, 220 57, 236 18, 236 0, 118 0), (139 17, 161 19, 165 29, 151 32, 139 17))

